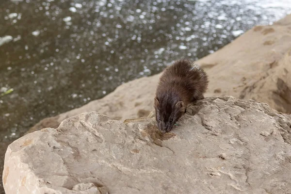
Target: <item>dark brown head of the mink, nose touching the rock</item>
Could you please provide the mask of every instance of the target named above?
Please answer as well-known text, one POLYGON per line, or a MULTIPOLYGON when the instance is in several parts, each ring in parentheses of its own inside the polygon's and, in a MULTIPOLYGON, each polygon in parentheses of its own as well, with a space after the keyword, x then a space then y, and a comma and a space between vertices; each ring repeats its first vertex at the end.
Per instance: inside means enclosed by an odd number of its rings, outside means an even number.
POLYGON ((178 119, 185 113, 183 101, 163 100, 155 97, 156 121, 162 133, 173 129, 178 119))

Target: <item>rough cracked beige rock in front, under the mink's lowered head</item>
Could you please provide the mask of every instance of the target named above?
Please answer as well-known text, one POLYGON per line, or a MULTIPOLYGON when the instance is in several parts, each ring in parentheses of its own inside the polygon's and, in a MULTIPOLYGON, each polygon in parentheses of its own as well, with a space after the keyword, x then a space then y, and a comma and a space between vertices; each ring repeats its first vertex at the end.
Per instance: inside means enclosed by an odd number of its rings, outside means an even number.
POLYGON ((162 135, 154 113, 81 113, 8 146, 6 194, 291 193, 291 115, 209 97, 162 135))

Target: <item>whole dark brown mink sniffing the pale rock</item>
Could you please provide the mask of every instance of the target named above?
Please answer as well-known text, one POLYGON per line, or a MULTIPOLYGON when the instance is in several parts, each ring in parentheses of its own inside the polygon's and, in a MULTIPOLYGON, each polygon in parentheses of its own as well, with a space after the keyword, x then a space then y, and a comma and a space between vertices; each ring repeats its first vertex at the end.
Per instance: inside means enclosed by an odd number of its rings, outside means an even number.
POLYGON ((208 82, 205 71, 187 59, 175 61, 164 70, 154 102, 158 128, 162 133, 173 129, 189 103, 204 98, 208 82))

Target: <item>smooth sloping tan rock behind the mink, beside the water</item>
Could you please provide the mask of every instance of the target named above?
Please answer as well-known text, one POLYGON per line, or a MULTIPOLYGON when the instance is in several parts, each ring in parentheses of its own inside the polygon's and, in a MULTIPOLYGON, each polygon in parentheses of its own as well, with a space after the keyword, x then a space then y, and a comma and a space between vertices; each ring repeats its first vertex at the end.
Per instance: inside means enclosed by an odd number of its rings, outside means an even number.
MULTIPOLYGON (((210 77, 206 97, 233 96, 265 102, 283 113, 291 113, 291 15, 271 26, 256 26, 224 48, 196 63, 210 77)), ((147 116, 161 74, 129 81, 102 99, 81 108, 46 118, 29 132, 56 128, 65 118, 96 111, 124 121, 147 116)))

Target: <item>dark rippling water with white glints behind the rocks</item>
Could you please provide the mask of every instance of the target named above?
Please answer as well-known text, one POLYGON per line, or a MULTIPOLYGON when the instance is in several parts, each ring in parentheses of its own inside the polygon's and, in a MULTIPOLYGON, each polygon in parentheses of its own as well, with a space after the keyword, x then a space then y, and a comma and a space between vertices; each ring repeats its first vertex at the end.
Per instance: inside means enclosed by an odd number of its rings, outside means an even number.
POLYGON ((1 0, 0 141, 118 85, 198 59, 290 0, 1 0), (9 90, 11 89, 11 90, 9 90), (13 91, 12 91, 13 89, 13 91))

